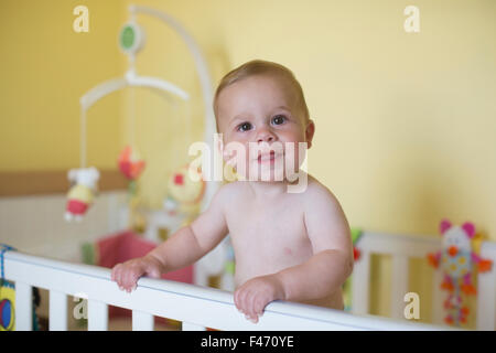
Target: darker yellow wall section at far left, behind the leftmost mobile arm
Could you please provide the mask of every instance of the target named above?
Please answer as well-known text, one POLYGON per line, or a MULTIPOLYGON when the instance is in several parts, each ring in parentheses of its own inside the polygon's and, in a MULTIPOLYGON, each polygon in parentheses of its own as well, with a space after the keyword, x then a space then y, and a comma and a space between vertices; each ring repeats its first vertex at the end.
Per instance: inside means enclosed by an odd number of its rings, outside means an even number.
MULTIPOLYGON (((0 171, 79 165, 79 97, 120 75, 119 0, 0 2, 0 171), (89 32, 76 33, 73 9, 89 8, 89 32)), ((115 168, 122 96, 88 114, 88 163, 115 168)))

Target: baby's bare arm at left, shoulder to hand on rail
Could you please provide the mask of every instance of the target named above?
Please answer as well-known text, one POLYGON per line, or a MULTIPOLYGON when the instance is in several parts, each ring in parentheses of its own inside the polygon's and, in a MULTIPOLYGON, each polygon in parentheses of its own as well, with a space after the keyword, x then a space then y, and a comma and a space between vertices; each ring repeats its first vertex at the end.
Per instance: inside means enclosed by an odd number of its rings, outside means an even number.
POLYGON ((159 278, 163 272, 183 268, 202 258, 228 233, 224 194, 220 188, 204 213, 145 256, 116 265, 111 279, 117 281, 119 288, 131 291, 143 275, 159 278))

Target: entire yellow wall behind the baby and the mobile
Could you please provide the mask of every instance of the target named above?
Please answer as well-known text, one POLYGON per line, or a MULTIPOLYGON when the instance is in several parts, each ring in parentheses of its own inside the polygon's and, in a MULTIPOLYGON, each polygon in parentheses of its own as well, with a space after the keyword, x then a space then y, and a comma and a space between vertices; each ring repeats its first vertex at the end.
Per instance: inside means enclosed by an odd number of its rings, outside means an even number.
MULTIPOLYGON (((309 171, 334 191, 352 225, 435 235, 439 221, 449 217, 472 221, 496 240, 495 1, 132 2, 183 23, 206 55, 214 85, 252 58, 295 73, 316 124, 309 171), (420 33, 403 30, 409 4, 420 9, 420 33)), ((77 165, 77 98, 126 68, 116 38, 128 3, 1 2, 1 170, 77 165), (90 10, 87 34, 72 31, 72 9, 79 3, 90 10)), ((202 139, 191 55, 170 29, 140 22, 148 46, 138 72, 192 94, 192 140, 202 139)), ((88 158, 100 168, 115 165, 129 140, 122 121, 134 114, 137 145, 148 162, 142 196, 159 206, 164 178, 187 159, 184 131, 177 133, 185 106, 174 110, 137 90, 136 113, 131 107, 129 90, 95 107, 88 158)), ((375 310, 387 311, 387 301, 378 300, 375 310)))

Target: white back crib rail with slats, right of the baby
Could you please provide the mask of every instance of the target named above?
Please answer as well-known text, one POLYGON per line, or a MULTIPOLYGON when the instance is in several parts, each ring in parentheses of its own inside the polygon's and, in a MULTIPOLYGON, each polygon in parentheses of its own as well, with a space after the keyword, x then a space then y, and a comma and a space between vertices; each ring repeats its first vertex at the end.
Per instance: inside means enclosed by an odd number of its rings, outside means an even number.
MULTIPOLYGON (((357 245, 360 258, 355 263, 352 288, 353 313, 366 314, 369 312, 370 298, 370 257, 374 254, 388 255, 392 258, 391 264, 391 318, 400 320, 403 318, 406 303, 403 297, 408 290, 408 274, 410 258, 424 258, 428 253, 441 249, 441 239, 428 236, 389 235, 364 232, 357 245)), ((496 266, 496 243, 484 242, 481 246, 481 256, 492 259, 496 266)), ((443 322, 442 300, 444 293, 439 286, 442 274, 434 271, 432 288, 432 321, 435 324, 443 322)), ((478 274, 477 277, 477 330, 496 329, 496 270, 478 274)))

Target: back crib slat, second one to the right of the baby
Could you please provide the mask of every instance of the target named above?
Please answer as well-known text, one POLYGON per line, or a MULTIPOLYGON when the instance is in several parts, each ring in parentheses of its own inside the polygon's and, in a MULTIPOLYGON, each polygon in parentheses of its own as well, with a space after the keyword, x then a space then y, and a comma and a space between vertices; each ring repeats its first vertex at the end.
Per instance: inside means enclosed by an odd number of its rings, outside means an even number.
POLYGON ((405 295, 408 292, 409 264, 402 254, 392 256, 391 318, 405 319, 405 295))

